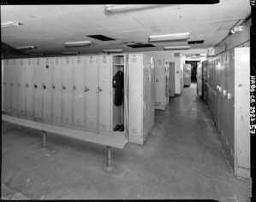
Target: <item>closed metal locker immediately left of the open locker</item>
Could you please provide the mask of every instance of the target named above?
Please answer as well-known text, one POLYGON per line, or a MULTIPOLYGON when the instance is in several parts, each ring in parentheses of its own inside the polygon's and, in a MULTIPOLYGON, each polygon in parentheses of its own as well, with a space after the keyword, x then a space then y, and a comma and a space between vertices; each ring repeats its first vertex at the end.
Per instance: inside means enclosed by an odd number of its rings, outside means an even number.
MULTIPOLYGON (((98 129, 111 130, 111 58, 110 55, 98 57, 98 129)), ((114 76, 114 75, 113 75, 114 76)))

